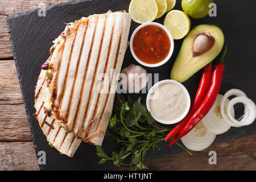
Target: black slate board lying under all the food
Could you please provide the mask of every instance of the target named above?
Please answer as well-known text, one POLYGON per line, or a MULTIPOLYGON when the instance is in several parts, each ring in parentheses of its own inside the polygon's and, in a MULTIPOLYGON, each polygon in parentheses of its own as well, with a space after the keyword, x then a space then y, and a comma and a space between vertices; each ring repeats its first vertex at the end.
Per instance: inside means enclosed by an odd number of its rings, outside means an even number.
MULTIPOLYGON (((181 10, 180 2, 177 0, 175 9, 181 10)), ((228 43, 228 53, 225 58, 226 70, 220 93, 224 94, 231 88, 237 88, 243 90, 251 100, 256 102, 256 52, 254 46, 256 42, 256 11, 254 10, 256 1, 218 0, 214 2, 217 4, 217 17, 207 16, 200 20, 191 19, 191 28, 197 24, 216 24, 224 31, 225 42, 228 43)), ((108 162, 104 165, 97 164, 100 159, 96 155, 96 148, 84 142, 81 143, 73 158, 60 155, 59 152, 48 145, 46 137, 44 137, 40 127, 36 125, 33 117, 33 113, 35 113, 34 85, 36 85, 41 64, 49 56, 52 40, 57 38, 60 32, 64 30, 64 23, 74 22, 76 19, 80 19, 81 16, 105 13, 108 10, 125 9, 127 11, 129 3, 129 0, 76 1, 47 7, 45 17, 38 16, 38 9, 7 16, 11 47, 13 48, 20 89, 22 90, 27 118, 30 123, 35 151, 36 154, 39 151, 46 151, 47 155, 46 165, 39 165, 40 169, 104 170, 114 168, 108 162)), ((156 22, 163 23, 163 18, 156 20, 156 22)), ((138 25, 134 22, 131 23, 130 35, 138 25)), ((179 52, 182 41, 175 40, 174 53, 166 64, 158 68, 146 68, 147 72, 160 73, 159 80, 170 78, 172 64, 179 52)), ((131 63, 137 64, 131 56, 130 49, 127 49, 123 68, 131 63)), ((191 98, 195 95, 199 80, 200 72, 184 82, 191 98)), ((138 97, 138 94, 133 94, 132 97, 138 97)), ((242 107, 238 108, 239 112, 242 112, 242 107)), ((240 128, 232 127, 225 134, 218 135, 214 143, 254 134, 256 133, 255 129, 256 123, 240 128)), ((164 142, 160 143, 159 146, 162 150, 156 153, 148 151, 145 160, 183 151, 176 145, 168 148, 167 143, 164 142)), ((108 154, 117 148, 108 136, 105 137, 102 147, 108 154)))

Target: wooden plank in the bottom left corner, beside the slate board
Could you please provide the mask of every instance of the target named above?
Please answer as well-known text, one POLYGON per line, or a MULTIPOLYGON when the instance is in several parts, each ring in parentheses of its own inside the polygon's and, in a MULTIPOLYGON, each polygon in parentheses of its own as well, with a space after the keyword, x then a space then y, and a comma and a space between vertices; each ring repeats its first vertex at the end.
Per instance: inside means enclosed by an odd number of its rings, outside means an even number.
POLYGON ((32 142, 0 142, 0 170, 38 170, 32 142))

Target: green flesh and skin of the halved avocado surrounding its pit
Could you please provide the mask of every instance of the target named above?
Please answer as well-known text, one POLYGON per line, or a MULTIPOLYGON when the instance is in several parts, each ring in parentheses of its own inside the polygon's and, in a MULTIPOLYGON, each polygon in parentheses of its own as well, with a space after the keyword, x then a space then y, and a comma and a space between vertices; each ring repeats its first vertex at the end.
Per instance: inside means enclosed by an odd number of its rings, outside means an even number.
POLYGON ((213 24, 200 24, 193 28, 183 40, 179 55, 171 71, 171 79, 179 82, 188 80, 205 65, 209 64, 221 52, 224 46, 224 34, 220 28, 213 24), (202 55, 193 57, 193 42, 200 33, 208 33, 215 39, 213 47, 202 55))

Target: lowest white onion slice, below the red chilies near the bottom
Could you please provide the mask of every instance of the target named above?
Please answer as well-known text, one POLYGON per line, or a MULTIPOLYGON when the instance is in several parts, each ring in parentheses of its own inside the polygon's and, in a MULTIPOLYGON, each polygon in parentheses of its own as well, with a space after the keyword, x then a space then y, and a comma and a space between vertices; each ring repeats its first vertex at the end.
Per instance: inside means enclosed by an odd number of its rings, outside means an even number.
POLYGON ((181 138, 181 142, 189 150, 201 151, 209 147, 216 135, 207 131, 201 122, 194 127, 187 135, 181 138))

